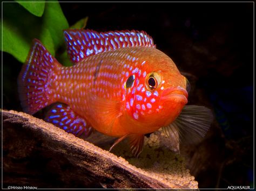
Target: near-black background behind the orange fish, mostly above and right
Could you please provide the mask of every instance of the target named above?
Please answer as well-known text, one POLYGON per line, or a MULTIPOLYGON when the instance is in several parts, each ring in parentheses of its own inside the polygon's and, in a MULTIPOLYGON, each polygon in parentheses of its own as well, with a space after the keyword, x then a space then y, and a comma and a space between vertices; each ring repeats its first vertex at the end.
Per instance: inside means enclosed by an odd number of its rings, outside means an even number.
MULTIPOLYGON (((70 25, 89 16, 87 29, 150 34, 190 80, 188 104, 215 114, 204 142, 183 149, 199 188, 253 187, 253 3, 60 5, 70 25)), ((3 109, 22 110, 21 66, 3 54, 3 109)))

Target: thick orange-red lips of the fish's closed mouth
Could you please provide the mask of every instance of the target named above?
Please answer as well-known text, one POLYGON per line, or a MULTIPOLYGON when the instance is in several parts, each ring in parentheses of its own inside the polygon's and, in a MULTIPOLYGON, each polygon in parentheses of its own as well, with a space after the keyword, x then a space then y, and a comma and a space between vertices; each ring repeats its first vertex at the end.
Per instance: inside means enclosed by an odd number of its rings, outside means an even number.
POLYGON ((161 94, 160 100, 174 99, 177 101, 179 100, 179 101, 187 102, 187 97, 188 97, 188 94, 186 89, 180 86, 177 86, 177 87, 171 87, 171 88, 165 89, 161 94))

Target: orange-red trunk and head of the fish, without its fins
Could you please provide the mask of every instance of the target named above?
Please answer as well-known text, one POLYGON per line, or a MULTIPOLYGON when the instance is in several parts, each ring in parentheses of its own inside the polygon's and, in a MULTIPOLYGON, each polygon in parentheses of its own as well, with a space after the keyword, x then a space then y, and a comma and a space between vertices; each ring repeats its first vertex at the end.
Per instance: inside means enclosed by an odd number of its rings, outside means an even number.
POLYGON ((114 137, 156 131, 174 121, 187 103, 184 76, 169 56, 152 47, 119 48, 72 67, 59 65, 52 79, 52 102, 70 105, 94 129, 114 137), (146 85, 152 72, 160 77, 154 90, 146 85), (133 86, 127 88, 131 75, 133 86))

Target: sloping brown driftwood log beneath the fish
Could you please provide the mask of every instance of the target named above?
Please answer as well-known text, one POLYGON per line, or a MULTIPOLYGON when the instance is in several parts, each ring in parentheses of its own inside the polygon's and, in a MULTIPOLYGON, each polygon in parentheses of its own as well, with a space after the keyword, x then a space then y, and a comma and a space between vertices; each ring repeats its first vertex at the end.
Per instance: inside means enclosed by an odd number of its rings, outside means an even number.
POLYGON ((151 173, 42 119, 6 110, 2 116, 3 188, 197 188, 184 167, 183 175, 151 173))

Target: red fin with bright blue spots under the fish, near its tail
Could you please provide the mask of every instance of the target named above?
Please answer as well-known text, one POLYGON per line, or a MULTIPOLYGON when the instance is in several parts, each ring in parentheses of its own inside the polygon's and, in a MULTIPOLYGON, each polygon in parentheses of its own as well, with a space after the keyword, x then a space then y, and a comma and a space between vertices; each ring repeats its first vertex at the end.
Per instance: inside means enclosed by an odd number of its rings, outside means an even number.
POLYGON ((46 113, 44 120, 75 136, 80 136, 84 133, 85 137, 87 137, 92 132, 89 122, 64 103, 54 104, 46 113))

